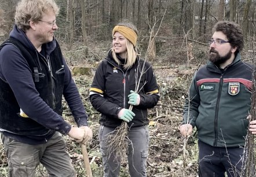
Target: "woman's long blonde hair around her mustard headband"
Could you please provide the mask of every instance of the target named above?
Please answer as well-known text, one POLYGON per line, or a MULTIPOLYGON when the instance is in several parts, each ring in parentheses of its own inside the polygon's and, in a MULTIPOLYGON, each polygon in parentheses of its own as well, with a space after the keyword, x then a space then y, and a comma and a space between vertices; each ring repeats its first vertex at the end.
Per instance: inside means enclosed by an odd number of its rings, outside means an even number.
MULTIPOLYGON (((137 28, 129 22, 119 23, 119 24, 117 24, 117 26, 123 26, 123 27, 130 28, 134 32, 136 32, 136 34, 138 35, 137 28)), ((112 50, 112 56, 113 56, 115 62, 117 62, 118 65, 120 65, 121 63, 118 60, 118 57, 116 57, 114 47, 112 47, 111 50, 112 50)), ((133 44, 130 42, 130 40, 127 40, 127 42, 126 42, 126 57, 125 57, 126 62, 125 62, 124 68, 125 69, 130 68, 136 61, 137 56, 138 56, 137 46, 133 46, 133 44)))

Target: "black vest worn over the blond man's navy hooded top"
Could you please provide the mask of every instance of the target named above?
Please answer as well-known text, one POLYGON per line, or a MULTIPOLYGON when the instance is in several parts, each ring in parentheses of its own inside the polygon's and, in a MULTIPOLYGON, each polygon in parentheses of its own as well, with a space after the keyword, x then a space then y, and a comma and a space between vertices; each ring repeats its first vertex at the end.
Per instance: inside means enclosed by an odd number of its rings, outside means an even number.
MULTIPOLYGON (((32 51, 14 38, 9 38, 0 46, 14 45, 27 60, 32 71, 36 90, 47 105, 62 114, 62 95, 64 88, 65 69, 62 60, 60 46, 56 41, 56 48, 46 58, 42 58, 37 51, 32 51), (47 62, 49 59, 49 63, 47 62), (50 65, 50 69, 48 67, 50 65)), ((2 58, 8 60, 8 58, 2 58)), ((15 73, 10 73, 15 75, 15 73)), ((31 118, 20 116, 20 106, 9 84, 0 79, 0 127, 3 130, 19 135, 46 135, 49 129, 31 118)))

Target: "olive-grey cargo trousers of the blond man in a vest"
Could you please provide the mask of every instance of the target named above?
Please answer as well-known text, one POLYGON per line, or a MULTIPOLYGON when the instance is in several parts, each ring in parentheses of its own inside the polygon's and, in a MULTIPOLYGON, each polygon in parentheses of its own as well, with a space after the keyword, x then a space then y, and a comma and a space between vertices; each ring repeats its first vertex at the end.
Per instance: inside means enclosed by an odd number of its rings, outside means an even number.
POLYGON ((3 134, 2 142, 8 157, 10 177, 34 177, 39 163, 47 169, 49 176, 75 176, 64 138, 58 132, 40 145, 21 143, 3 134))

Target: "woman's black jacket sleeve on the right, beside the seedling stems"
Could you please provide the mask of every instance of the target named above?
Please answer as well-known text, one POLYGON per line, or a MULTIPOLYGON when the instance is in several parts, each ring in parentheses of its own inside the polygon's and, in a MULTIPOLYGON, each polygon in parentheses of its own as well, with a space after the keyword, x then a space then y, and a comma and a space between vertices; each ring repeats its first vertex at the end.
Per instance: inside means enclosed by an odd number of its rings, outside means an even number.
POLYGON ((158 84, 156 83, 156 77, 153 73, 153 68, 148 62, 145 64, 144 71, 146 81, 144 85, 144 94, 140 93, 141 100, 140 104, 137 105, 137 108, 149 109, 158 104, 160 95, 158 91, 158 84))

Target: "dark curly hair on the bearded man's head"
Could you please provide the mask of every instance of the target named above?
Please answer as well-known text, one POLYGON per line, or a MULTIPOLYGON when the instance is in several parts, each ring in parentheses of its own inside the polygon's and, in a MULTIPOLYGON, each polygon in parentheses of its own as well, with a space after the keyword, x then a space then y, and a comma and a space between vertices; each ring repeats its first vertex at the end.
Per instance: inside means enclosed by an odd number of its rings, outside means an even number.
POLYGON ((218 21, 213 27, 213 33, 221 31, 228 38, 232 47, 237 47, 236 53, 243 50, 243 31, 239 24, 233 21, 218 21))

